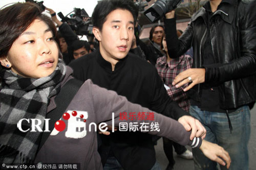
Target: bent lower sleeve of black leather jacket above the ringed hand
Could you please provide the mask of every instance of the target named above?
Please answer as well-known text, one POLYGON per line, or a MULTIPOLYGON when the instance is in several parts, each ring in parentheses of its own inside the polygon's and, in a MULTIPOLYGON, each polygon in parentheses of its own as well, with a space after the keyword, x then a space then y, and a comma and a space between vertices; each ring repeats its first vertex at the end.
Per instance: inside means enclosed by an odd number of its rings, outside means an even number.
MULTIPOLYGON (((238 59, 224 64, 205 67, 205 83, 225 82, 245 78, 256 72, 256 13, 255 1, 247 8, 240 6, 240 43, 237 43, 238 59)), ((231 41, 231 40, 230 40, 231 41)), ((231 43, 231 42, 230 42, 231 43)), ((233 42, 236 43, 236 42, 233 42)))

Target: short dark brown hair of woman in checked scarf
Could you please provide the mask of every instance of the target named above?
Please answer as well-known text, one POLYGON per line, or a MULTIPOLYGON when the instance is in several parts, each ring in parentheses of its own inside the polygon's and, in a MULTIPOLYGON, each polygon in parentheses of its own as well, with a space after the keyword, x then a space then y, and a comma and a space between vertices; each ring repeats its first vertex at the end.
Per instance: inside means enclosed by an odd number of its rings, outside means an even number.
POLYGON ((51 18, 41 14, 35 3, 16 3, 0 10, 0 57, 7 56, 13 42, 35 20, 44 21, 56 36, 56 28, 51 18))

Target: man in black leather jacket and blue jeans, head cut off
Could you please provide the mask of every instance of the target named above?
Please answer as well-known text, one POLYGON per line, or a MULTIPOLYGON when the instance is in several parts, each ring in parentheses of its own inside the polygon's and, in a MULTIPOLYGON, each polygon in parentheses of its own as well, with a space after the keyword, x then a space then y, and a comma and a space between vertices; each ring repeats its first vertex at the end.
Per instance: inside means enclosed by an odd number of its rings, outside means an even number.
MULTIPOLYGON (((205 126, 206 140, 229 152, 231 169, 248 169, 248 104, 256 97, 253 7, 255 1, 209 1, 193 15, 179 39, 174 11, 164 19, 169 56, 179 57, 191 46, 194 50, 194 68, 181 72, 173 85, 190 83, 184 89, 190 89, 190 114, 205 126)), ((216 169, 216 163, 200 151, 193 150, 193 156, 196 169, 216 169)))

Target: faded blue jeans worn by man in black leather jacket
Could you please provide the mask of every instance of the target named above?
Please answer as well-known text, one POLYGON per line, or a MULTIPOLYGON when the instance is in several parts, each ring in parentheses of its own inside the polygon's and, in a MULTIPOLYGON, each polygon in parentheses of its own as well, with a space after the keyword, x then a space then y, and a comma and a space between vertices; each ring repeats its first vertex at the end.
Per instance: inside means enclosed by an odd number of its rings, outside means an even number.
MULTIPOLYGON (((229 113, 232 133, 228 126, 226 113, 202 111, 190 106, 189 113, 197 118, 206 129, 205 140, 223 147, 231 158, 229 169, 248 169, 248 141, 250 137, 250 110, 242 106, 229 113)), ((195 169, 217 169, 217 163, 206 158, 199 149, 193 149, 195 169)), ((226 169, 225 166, 220 166, 226 169)))

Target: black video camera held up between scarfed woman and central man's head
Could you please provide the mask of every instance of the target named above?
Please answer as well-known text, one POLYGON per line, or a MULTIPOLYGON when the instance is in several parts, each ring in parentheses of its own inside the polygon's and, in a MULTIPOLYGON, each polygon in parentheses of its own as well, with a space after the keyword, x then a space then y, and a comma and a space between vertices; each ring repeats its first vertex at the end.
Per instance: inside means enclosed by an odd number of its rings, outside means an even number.
POLYGON ((71 29, 76 35, 92 35, 91 18, 84 9, 74 8, 74 14, 70 15, 70 18, 64 16, 61 12, 58 13, 62 22, 68 23, 71 29), (84 18, 88 17, 88 20, 84 21, 84 18))

